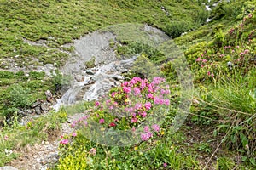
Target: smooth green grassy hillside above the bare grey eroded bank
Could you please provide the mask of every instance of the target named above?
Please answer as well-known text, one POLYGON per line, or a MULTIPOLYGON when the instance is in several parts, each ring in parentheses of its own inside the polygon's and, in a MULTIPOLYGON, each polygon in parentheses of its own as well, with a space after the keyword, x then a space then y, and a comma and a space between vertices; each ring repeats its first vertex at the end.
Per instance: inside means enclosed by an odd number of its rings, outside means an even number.
MULTIPOLYGON (((190 26, 201 11, 196 1, 1 1, 0 5, 0 59, 14 59, 19 66, 31 59, 46 63, 59 61, 67 56, 58 48, 86 33, 119 23, 144 23, 167 31, 168 23, 186 18, 190 26), (166 15, 161 6, 166 7, 166 15), (177 10, 178 8, 178 10, 177 10), (47 40, 46 47, 31 46, 23 38, 36 42, 47 40), (57 48, 57 49, 53 49, 57 48), (19 55, 18 59, 12 58, 19 55)), ((65 48, 62 48, 65 49, 65 48)), ((6 65, 1 65, 5 67, 6 65)))

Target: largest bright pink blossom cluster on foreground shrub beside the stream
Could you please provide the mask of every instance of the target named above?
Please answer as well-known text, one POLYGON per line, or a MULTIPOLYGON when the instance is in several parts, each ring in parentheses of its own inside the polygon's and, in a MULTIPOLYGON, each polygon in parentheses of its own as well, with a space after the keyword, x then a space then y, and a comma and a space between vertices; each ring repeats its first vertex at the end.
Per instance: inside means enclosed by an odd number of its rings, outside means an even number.
MULTIPOLYGON (((108 95, 109 99, 104 99, 105 102, 101 102, 101 104, 96 103, 96 121, 108 128, 134 128, 137 123, 143 122, 147 116, 154 114, 154 109, 159 106, 168 107, 170 105, 170 100, 167 96, 171 94, 171 91, 168 85, 165 86, 163 84, 165 81, 162 77, 154 77, 152 82, 140 77, 133 77, 131 81, 123 82, 121 87, 112 88, 108 95), (99 105, 101 105, 100 109, 99 105), (102 111, 121 111, 121 114, 126 116, 125 122, 123 118, 122 121, 119 121, 117 117, 111 118, 112 120, 109 117, 106 119, 102 115, 102 111)), ((145 127, 144 133, 140 134, 141 139, 146 141, 159 131, 160 126, 157 124, 145 127)))

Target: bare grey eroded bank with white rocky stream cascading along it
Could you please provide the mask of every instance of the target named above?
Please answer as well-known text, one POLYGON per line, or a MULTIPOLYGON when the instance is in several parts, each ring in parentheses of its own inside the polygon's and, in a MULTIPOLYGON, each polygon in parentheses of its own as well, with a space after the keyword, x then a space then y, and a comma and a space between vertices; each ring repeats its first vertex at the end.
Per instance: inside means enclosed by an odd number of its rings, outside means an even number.
MULTIPOLYGON (((163 31, 152 26, 142 25, 140 30, 145 33, 141 32, 140 39, 148 44, 155 45, 170 39, 163 31)), ((109 45, 110 42, 118 42, 117 35, 114 31, 95 31, 74 41, 76 55, 67 60, 62 70, 64 75, 73 77, 73 83, 70 88, 62 88, 63 96, 53 106, 55 111, 61 105, 98 99, 108 93, 110 88, 124 81, 123 73, 131 70, 138 54, 129 57, 117 55, 115 49, 109 45), (91 60, 94 66, 89 69, 86 63, 91 60)))

